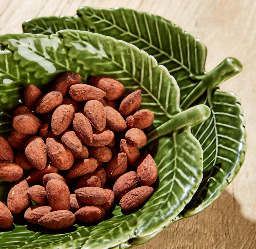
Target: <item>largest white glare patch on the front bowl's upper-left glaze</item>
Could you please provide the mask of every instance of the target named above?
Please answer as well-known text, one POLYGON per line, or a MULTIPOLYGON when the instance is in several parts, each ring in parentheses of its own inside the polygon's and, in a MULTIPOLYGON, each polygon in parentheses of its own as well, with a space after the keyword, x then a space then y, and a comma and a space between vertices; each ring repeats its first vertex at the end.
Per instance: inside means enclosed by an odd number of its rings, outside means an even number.
POLYGON ((56 68, 53 65, 53 63, 46 60, 46 58, 48 58, 48 59, 50 58, 50 56, 46 52, 46 47, 53 47, 53 49, 56 51, 58 49, 58 46, 59 46, 59 43, 60 43, 59 39, 27 37, 27 38, 21 38, 20 40, 9 39, 8 41, 10 41, 10 43, 13 46, 16 46, 18 48, 18 53, 22 57, 24 57, 26 60, 37 62, 48 73, 56 72, 56 68), (35 52, 35 51, 37 51, 37 49, 34 45, 35 40, 40 40, 41 41, 44 56, 40 56, 35 52))

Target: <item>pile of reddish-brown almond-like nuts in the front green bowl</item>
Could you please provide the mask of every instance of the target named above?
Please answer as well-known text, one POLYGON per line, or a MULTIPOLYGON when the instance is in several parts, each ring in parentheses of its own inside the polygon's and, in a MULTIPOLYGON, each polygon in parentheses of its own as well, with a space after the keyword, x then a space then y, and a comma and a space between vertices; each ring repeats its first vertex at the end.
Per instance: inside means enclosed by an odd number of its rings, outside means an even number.
POLYGON ((102 220, 115 199, 123 211, 143 204, 158 170, 138 149, 154 121, 138 111, 141 100, 141 90, 124 97, 124 86, 106 76, 82 84, 67 72, 45 95, 29 84, 8 141, 0 137, 0 180, 14 182, 7 206, 0 202, 0 227, 23 211, 28 222, 63 229, 102 220))

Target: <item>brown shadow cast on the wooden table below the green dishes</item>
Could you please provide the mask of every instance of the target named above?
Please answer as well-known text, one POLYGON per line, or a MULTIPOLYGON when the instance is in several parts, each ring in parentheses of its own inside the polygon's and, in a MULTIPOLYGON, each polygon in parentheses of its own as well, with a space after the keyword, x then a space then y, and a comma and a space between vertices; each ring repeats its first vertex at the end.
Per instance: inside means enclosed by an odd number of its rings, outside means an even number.
POLYGON ((177 221, 136 249, 254 249, 256 221, 241 212, 239 202, 225 190, 202 213, 177 221))

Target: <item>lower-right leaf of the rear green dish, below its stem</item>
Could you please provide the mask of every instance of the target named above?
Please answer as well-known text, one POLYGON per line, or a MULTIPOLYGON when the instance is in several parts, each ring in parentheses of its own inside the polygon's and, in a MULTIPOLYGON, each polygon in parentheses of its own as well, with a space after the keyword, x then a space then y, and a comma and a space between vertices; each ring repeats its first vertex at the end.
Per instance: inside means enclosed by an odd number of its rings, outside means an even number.
MULTIPOLYGON (((209 104, 207 97, 199 103, 209 104)), ((238 174, 246 151, 245 120, 241 100, 231 92, 215 90, 211 98, 211 115, 192 129, 204 152, 203 180, 177 219, 200 213, 218 198, 238 174)))

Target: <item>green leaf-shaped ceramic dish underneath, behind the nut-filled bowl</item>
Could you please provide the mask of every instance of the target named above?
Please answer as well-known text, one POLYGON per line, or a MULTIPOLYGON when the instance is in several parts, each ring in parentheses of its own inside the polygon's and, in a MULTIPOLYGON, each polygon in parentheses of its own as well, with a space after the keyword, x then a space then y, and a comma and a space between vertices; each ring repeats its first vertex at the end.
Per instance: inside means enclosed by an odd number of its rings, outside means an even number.
POLYGON ((60 29, 90 30, 134 44, 164 65, 181 90, 181 107, 207 104, 211 117, 192 129, 204 150, 204 180, 181 217, 207 208, 238 174, 246 151, 245 121, 240 98, 219 86, 239 73, 241 63, 226 58, 206 73, 206 46, 162 17, 126 8, 80 7, 77 15, 39 17, 23 23, 23 31, 53 34, 60 29), (200 100, 198 100, 198 98, 200 100))

